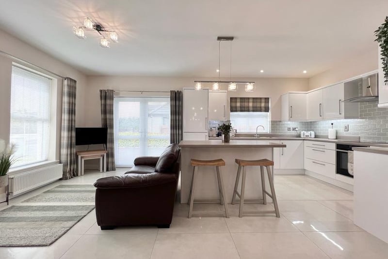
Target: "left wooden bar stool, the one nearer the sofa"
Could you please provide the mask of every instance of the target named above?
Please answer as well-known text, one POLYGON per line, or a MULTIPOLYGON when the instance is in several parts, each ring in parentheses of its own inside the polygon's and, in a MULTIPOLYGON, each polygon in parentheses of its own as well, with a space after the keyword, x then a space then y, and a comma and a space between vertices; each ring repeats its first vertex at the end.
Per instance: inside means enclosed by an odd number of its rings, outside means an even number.
MULTIPOLYGON (((215 159, 215 160, 196 160, 191 159, 191 166, 193 167, 193 176, 191 178, 191 187, 190 187, 190 195, 189 195, 189 218, 192 217, 193 213, 201 213, 203 214, 209 214, 209 213, 224 213, 225 217, 229 218, 229 211, 227 209, 227 202, 225 199, 225 189, 224 189, 224 181, 222 179, 222 174, 220 173, 220 166, 225 166, 225 161, 223 159, 215 159), (195 190, 195 178, 198 173, 198 167, 199 166, 215 166, 216 173, 217 173, 217 182, 218 182, 218 192, 220 195, 220 203, 221 205, 224 205, 225 211, 193 211, 193 205, 194 205, 194 190, 195 190)), ((201 203, 207 203, 207 202, 201 202, 201 203)))

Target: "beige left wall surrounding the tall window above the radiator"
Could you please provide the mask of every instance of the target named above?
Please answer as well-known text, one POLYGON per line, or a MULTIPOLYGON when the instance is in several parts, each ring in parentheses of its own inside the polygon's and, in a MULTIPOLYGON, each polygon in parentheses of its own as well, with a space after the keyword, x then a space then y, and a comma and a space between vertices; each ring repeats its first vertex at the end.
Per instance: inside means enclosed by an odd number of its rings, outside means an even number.
MULTIPOLYGON (((85 98, 85 87, 87 84, 87 77, 71 66, 58 61, 54 57, 39 51, 38 49, 28 45, 27 43, 17 39, 16 37, 9 35, 0 30, 0 50, 8 54, 14 55, 17 58, 28 61, 34 65, 49 69, 54 73, 65 77, 71 77, 77 80, 77 109, 76 124, 82 126, 84 122, 84 109, 83 100, 85 98)), ((15 61, 0 54, 0 138, 9 139, 9 123, 10 121, 10 101, 11 101, 11 69, 12 63, 18 63, 20 65, 29 67, 39 72, 48 74, 46 71, 36 69, 35 67, 29 66, 25 63, 15 61)), ((55 145, 55 158, 59 159, 60 150, 60 132, 61 132, 61 113, 62 113, 62 78, 57 78, 57 113, 56 113, 56 145, 55 145)))

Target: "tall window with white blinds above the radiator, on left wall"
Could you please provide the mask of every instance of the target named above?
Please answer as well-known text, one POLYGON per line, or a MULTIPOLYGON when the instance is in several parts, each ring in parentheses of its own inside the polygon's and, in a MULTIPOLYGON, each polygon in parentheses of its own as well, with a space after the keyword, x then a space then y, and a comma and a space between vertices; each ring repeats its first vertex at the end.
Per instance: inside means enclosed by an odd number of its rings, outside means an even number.
POLYGON ((10 142, 21 166, 48 159, 51 79, 12 67, 10 142))

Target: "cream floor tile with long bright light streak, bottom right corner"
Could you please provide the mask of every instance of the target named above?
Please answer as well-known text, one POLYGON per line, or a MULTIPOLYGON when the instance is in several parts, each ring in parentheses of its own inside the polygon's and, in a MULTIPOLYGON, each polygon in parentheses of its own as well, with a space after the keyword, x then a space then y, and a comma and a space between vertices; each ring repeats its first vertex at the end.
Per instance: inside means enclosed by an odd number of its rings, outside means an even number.
POLYGON ((332 259, 388 258, 388 244, 367 232, 310 232, 305 234, 332 259))

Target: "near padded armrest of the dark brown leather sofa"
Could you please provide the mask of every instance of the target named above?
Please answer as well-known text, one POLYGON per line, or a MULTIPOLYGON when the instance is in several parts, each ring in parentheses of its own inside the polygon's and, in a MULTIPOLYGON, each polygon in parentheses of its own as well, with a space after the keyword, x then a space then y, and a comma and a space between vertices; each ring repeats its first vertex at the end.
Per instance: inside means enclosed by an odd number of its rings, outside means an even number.
POLYGON ((97 189, 129 189, 144 188, 178 181, 172 173, 127 173, 98 179, 94 186, 97 189))

